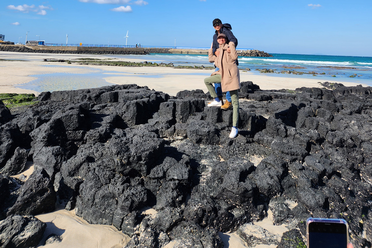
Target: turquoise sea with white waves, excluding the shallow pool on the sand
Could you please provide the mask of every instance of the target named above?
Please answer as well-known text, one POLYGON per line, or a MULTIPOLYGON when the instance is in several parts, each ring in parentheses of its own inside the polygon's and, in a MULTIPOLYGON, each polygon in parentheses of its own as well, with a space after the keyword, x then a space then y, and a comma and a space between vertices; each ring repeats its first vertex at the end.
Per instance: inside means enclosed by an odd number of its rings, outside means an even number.
MULTIPOLYGON (((306 78, 318 77, 320 81, 356 82, 372 86, 372 57, 272 54, 274 57, 239 57, 239 68, 258 70, 272 69, 278 77, 306 78), (291 74, 287 74, 291 71, 291 74), (297 72, 297 74, 295 74, 297 72), (299 75, 298 73, 302 73, 299 75), (313 76, 315 75, 315 76, 313 76)), ((136 59, 155 62, 172 62, 174 65, 211 66, 207 55, 191 54, 151 54, 132 55, 136 59)), ((127 57, 128 58, 128 57, 127 57)), ((130 59, 130 58, 128 58, 130 59)))

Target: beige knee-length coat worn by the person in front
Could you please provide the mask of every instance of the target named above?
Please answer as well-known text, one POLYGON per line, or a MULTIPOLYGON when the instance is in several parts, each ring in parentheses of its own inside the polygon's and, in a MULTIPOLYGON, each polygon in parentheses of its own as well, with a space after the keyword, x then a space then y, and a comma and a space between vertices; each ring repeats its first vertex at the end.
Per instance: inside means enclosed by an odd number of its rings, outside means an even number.
POLYGON ((211 76, 216 74, 221 75, 222 92, 240 89, 240 74, 236 65, 238 53, 236 52, 235 44, 233 42, 230 42, 229 45, 225 43, 220 45, 217 51, 220 52, 218 57, 213 54, 212 48, 208 51, 209 62, 215 62, 219 68, 211 76), (227 52, 228 47, 230 47, 230 53, 227 52))

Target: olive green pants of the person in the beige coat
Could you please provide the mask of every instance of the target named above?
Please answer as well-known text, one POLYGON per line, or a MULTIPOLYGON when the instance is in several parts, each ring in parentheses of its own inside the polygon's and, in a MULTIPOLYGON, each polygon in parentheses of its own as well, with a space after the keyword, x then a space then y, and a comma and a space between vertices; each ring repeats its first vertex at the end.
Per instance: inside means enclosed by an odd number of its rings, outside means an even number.
MULTIPOLYGON (((217 93, 216 93, 216 90, 213 84, 220 83, 220 82, 221 82, 221 75, 218 75, 218 74, 204 79, 205 86, 207 86, 208 92, 211 94, 213 98, 217 97, 217 93)), ((238 127, 238 124, 239 124, 238 90, 230 91, 230 95, 231 95, 231 103, 233 105, 233 126, 238 127)))

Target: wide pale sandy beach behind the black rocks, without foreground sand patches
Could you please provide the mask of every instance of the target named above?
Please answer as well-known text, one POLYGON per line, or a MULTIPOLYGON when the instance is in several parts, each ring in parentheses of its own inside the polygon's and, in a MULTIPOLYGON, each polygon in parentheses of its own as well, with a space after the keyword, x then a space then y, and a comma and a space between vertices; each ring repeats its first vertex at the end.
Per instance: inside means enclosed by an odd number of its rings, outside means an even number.
MULTIPOLYGON (((45 62, 44 60, 75 60, 78 58, 106 59, 103 55, 79 54, 30 54, 16 52, 0 52, 0 93, 34 93, 40 92, 19 88, 19 85, 37 79, 35 75, 55 73, 87 74, 97 69, 108 74, 104 79, 112 84, 137 84, 150 89, 176 95, 182 90, 202 89, 205 93, 204 78, 209 77, 213 70, 177 69, 171 67, 118 67, 100 65, 80 65, 66 62, 45 62)), ((112 56, 114 57, 114 56, 112 56)), ((113 59, 110 61, 128 61, 113 59)), ((130 62, 143 62, 130 59, 130 62)), ((148 60, 151 62, 151 60, 148 60)), ((291 78, 285 75, 264 74, 240 70, 241 81, 252 81, 262 90, 294 90, 300 87, 319 87, 319 78, 291 78), (284 77, 283 77, 284 76, 284 77)), ((337 82, 337 81, 332 81, 337 82)), ((78 82, 77 82, 78 83, 78 82)), ((341 82, 345 86, 355 86, 354 82, 341 82)), ((368 86, 368 85, 363 85, 368 86)))

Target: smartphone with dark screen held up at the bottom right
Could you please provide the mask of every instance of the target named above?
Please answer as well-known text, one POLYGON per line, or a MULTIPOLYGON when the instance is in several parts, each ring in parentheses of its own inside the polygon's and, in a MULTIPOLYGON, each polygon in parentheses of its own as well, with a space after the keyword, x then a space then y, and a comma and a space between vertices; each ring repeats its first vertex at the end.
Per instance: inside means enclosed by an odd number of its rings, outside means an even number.
POLYGON ((344 219, 308 218, 308 248, 347 248, 349 226, 344 219))

